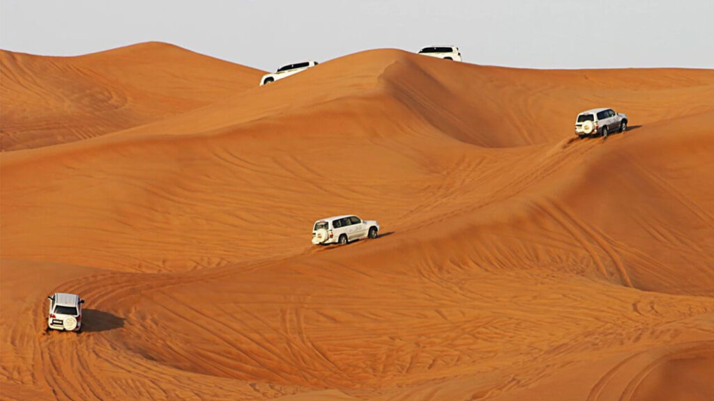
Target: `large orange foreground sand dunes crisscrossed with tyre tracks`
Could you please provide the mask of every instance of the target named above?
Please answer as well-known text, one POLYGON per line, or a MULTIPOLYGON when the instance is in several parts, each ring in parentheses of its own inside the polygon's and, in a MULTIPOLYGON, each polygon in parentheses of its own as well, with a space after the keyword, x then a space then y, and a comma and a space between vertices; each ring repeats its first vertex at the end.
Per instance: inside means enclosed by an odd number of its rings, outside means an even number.
POLYGON ((709 400, 713 88, 368 51, 4 153, 2 397, 709 400), (310 246, 341 213, 381 238, 310 246))

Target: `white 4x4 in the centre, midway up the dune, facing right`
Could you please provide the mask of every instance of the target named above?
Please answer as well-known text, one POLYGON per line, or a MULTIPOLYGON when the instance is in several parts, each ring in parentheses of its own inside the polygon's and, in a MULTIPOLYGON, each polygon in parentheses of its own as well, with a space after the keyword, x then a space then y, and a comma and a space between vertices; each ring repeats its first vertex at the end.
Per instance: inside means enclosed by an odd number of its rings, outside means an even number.
POLYGON ((377 238, 379 224, 375 220, 362 220, 356 215, 336 215, 317 220, 313 225, 313 244, 346 244, 359 238, 377 238))

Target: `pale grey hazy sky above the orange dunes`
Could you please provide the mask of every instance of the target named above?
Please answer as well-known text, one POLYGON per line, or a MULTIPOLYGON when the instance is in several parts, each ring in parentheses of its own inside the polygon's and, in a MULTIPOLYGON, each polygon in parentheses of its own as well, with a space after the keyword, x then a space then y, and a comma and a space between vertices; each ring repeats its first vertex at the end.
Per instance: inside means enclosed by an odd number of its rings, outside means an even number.
POLYGON ((0 48, 74 56, 165 41, 273 71, 456 44, 531 68, 714 68, 714 0, 0 0, 0 48))

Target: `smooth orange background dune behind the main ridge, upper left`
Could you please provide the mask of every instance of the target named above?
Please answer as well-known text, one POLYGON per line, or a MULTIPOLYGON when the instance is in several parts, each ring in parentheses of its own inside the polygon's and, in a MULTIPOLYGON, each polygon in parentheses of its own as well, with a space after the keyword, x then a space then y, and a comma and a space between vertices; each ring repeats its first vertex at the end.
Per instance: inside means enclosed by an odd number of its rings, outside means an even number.
POLYGON ((262 71, 150 42, 77 57, 0 51, 0 150, 79 141, 205 106, 262 71))

